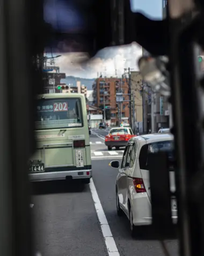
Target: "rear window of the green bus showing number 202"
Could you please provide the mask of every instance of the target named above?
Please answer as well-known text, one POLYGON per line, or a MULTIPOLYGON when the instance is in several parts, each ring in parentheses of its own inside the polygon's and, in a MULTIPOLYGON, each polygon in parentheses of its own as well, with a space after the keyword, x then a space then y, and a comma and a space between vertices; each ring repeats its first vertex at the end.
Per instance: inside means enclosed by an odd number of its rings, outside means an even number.
POLYGON ((37 130, 83 126, 81 99, 41 99, 37 103, 37 130))

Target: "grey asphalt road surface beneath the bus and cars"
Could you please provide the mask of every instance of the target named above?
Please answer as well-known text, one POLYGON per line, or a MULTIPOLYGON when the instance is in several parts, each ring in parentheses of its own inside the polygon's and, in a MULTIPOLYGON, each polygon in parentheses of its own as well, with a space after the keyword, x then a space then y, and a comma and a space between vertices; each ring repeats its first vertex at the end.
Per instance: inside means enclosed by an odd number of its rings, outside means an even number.
MULTIPOLYGON (((89 185, 33 184, 35 244, 42 256, 164 256, 158 241, 133 239, 127 218, 116 215, 118 170, 108 163, 120 161, 123 150, 110 155, 103 139, 107 133, 93 130, 90 135, 93 179, 89 185)), ((170 254, 177 256, 177 241, 166 244, 170 254)))

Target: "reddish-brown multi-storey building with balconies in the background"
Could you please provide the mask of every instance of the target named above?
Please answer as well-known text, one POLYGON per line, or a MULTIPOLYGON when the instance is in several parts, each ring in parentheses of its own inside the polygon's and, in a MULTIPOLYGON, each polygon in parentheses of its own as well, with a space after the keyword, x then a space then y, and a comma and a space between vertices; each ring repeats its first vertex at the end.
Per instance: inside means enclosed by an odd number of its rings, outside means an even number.
MULTIPOLYGON (((111 112, 111 123, 117 125, 119 120, 119 109, 118 104, 116 104, 116 92, 122 89, 123 100, 129 100, 128 94, 128 84, 126 79, 120 78, 98 78, 94 81, 92 85, 93 89, 93 106, 97 108, 104 108, 105 106, 110 107, 111 112)), ((128 122, 129 117, 129 102, 122 102, 120 109, 122 113, 122 121, 128 122)))

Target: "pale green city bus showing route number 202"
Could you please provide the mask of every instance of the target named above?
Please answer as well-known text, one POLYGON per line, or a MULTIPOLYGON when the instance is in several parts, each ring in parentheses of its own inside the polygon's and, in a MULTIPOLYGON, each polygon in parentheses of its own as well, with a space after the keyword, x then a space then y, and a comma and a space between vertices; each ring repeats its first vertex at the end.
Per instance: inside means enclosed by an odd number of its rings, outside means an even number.
POLYGON ((37 149, 29 163, 32 182, 92 177, 85 96, 78 93, 38 95, 35 114, 37 149))

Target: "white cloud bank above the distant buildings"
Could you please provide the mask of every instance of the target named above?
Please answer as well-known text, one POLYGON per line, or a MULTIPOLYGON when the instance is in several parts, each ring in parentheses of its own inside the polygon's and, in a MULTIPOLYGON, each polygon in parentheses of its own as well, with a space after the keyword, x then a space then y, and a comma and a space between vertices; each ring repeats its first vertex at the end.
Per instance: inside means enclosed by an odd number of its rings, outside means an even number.
POLYGON ((138 70, 137 61, 142 55, 140 45, 133 43, 128 46, 108 47, 97 53, 92 59, 83 53, 62 53, 56 58, 55 64, 60 72, 82 78, 96 78, 100 75, 114 76, 124 72, 124 68, 138 70), (88 60, 88 61, 85 61, 88 60))

